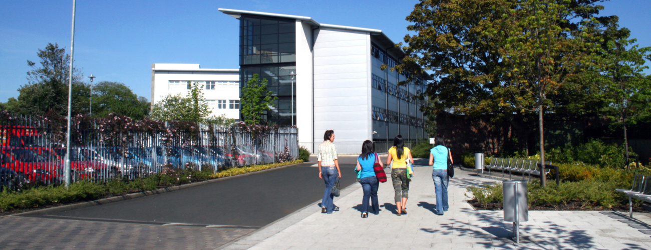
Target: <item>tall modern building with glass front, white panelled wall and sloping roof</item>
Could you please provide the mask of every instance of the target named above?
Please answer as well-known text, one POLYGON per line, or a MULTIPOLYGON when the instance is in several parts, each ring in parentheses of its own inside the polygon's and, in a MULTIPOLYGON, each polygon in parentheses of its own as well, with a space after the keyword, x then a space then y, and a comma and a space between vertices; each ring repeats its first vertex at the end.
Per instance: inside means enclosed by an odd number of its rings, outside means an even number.
POLYGON ((329 129, 335 131, 339 153, 359 153, 365 140, 385 151, 396 134, 408 141, 426 138, 423 103, 411 98, 425 86, 398 86, 406 77, 381 69, 404 56, 382 31, 305 16, 219 11, 240 21, 240 90, 254 74, 266 79, 278 100, 264 119, 291 125, 294 116, 299 144, 312 152, 329 129))

